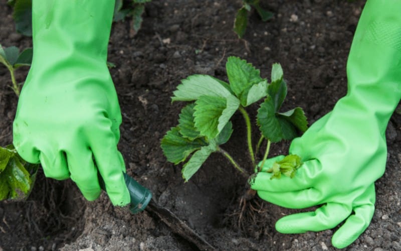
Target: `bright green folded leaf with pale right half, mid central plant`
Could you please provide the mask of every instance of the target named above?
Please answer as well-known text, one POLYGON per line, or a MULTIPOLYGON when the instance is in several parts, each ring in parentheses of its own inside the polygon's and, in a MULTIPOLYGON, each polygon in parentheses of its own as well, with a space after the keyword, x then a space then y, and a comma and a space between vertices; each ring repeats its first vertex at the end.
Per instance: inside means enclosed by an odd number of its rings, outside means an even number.
POLYGON ((200 96, 195 101, 195 128, 200 135, 214 139, 226 126, 240 105, 240 100, 230 95, 227 98, 200 96))

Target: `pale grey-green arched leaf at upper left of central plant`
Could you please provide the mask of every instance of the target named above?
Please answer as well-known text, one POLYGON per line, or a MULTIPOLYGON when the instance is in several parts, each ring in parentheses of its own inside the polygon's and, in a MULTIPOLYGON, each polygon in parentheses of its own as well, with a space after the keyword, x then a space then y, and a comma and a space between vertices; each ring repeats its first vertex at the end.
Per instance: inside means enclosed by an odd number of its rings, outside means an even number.
POLYGON ((192 101, 200 96, 227 97, 232 95, 230 86, 209 75, 191 75, 181 80, 173 92, 172 101, 192 101))

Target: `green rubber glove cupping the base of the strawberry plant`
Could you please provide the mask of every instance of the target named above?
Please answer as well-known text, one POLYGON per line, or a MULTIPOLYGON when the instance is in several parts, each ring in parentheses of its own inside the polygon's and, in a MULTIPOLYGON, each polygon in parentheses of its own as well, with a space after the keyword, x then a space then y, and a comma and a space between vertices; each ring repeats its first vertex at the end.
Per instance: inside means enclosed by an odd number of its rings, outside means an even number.
POLYGON ((369 225, 374 212, 374 181, 384 173, 385 130, 401 98, 401 1, 368 0, 352 42, 348 92, 290 147, 304 161, 293 179, 270 180, 262 172, 251 187, 267 201, 288 208, 321 205, 314 212, 281 218, 276 229, 303 233, 333 228, 332 244, 351 244, 369 225))

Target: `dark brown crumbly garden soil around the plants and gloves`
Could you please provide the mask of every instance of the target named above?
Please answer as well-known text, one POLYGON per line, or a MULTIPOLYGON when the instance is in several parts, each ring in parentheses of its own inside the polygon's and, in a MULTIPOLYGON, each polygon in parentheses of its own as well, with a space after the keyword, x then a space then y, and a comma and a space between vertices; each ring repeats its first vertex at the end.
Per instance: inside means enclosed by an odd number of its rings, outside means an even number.
MULTIPOLYGON (((0 43, 32 46, 16 33, 12 9, 0 4, 0 43)), ((108 61, 118 92, 123 123, 119 149, 127 172, 148 187, 158 203, 178 215, 219 250, 334 250, 336 230, 281 234, 274 228, 282 208, 259 198, 249 202, 260 213, 238 225, 235 209, 246 184, 222 156, 215 154, 187 183, 181 166, 162 155, 160 140, 177 123, 183 103, 171 104, 180 79, 195 73, 226 80, 225 62, 239 56, 270 76, 280 62, 288 83, 285 108, 301 106, 310 124, 330 111, 346 93, 346 60, 364 2, 323 0, 261 1, 275 13, 264 23, 252 12, 246 36, 232 31, 241 1, 165 0, 146 4, 142 29, 134 36, 131 20, 113 24, 108 61)), ((28 69, 18 70, 24 81, 28 69)), ((12 142, 18 98, 10 75, 0 67, 0 145, 12 142)), ((249 112, 256 114, 256 106, 249 112)), ((233 118, 234 136, 224 149, 251 171, 245 123, 233 118)), ((345 250, 401 250, 401 115, 394 113, 386 136, 388 161, 376 182, 376 210, 367 230, 345 250)), ((254 130, 254 141, 257 133, 254 130)), ((285 154, 289 143, 272 147, 285 154)), ((193 250, 147 212, 131 215, 113 208, 107 195, 88 202, 71 181, 46 179, 43 172, 27 202, 0 203, 0 250, 193 250)))

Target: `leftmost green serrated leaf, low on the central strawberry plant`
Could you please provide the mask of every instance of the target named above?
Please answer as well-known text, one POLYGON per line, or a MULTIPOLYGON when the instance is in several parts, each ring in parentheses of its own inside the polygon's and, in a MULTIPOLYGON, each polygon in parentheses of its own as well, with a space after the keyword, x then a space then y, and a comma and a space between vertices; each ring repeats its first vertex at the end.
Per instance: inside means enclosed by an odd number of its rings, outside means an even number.
POLYGON ((183 138, 177 127, 171 128, 161 140, 164 156, 174 164, 184 161, 193 151, 206 145, 202 139, 191 141, 183 138))

